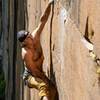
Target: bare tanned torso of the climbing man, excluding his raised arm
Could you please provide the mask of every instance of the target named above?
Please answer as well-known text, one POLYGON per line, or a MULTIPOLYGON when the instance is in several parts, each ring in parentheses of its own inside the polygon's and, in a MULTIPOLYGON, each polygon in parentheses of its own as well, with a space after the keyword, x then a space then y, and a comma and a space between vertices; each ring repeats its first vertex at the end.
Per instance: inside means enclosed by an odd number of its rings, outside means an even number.
POLYGON ((30 71, 34 69, 42 71, 44 57, 40 37, 36 36, 36 30, 32 34, 29 34, 22 44, 22 58, 30 71))

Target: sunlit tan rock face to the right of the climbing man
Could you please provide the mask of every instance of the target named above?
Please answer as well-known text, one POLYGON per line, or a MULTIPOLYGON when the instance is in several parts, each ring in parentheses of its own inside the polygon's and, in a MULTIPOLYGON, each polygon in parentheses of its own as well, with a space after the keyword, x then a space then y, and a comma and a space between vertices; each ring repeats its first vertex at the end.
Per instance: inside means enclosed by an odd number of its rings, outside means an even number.
MULTIPOLYGON (((36 1, 30 0, 29 2, 31 7, 36 1)), ((40 5, 40 2, 37 4, 40 5)), ((37 6, 38 10, 41 8, 43 12, 45 4, 47 1, 42 1, 41 6, 37 6)), ((44 70, 57 85, 59 100, 99 100, 100 98, 95 63, 81 43, 81 37, 86 34, 86 23, 89 18, 88 38, 94 43, 95 52, 99 55, 99 6, 99 0, 62 0, 54 6, 52 29, 50 28, 50 18, 44 28, 41 36, 45 55, 44 70), (52 59, 50 56, 50 30, 52 30, 52 59), (91 35, 92 31, 94 31, 94 35, 91 35), (52 66, 50 66, 50 60, 52 60, 52 66)), ((30 27, 34 26, 31 23, 34 15, 32 17, 30 12, 37 11, 32 9, 28 9, 30 27)), ((37 11, 39 16, 41 10, 37 11)), ((29 30, 31 29, 29 28, 29 30)))

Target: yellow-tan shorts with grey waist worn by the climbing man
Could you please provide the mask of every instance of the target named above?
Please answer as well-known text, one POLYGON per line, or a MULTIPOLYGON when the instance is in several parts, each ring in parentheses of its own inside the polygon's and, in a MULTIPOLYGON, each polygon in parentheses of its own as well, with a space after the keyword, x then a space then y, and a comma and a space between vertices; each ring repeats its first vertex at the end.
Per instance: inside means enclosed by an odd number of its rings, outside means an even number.
POLYGON ((39 90, 40 97, 49 95, 49 85, 40 78, 32 76, 27 68, 25 68, 23 80, 28 87, 39 90))

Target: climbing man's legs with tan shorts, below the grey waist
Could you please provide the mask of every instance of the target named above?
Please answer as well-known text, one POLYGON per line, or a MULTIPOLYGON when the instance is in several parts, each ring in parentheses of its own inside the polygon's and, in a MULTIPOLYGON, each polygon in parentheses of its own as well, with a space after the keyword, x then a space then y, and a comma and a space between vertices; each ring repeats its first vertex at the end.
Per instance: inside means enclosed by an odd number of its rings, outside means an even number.
POLYGON ((56 89, 50 81, 48 81, 47 84, 40 78, 35 78, 32 75, 29 75, 26 84, 31 88, 39 90, 39 96, 42 98, 41 100, 55 100, 56 89))

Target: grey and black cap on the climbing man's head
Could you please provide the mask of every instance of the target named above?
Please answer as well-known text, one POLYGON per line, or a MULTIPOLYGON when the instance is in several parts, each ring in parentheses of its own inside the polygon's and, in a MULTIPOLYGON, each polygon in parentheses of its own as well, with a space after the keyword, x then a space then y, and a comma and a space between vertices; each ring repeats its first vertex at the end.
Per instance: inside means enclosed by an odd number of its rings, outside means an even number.
POLYGON ((29 34, 28 31, 21 30, 21 31, 17 32, 17 39, 20 42, 23 42, 25 40, 25 38, 27 37, 28 34, 29 34))

